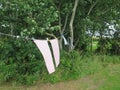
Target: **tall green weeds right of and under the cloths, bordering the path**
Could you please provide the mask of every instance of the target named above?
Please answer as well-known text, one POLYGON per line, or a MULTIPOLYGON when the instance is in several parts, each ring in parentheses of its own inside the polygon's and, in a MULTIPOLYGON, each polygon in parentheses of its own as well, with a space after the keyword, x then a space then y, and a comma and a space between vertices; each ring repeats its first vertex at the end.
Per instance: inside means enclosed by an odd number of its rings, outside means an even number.
POLYGON ((68 81, 93 75, 98 71, 107 67, 109 64, 120 63, 120 57, 108 55, 94 55, 80 57, 76 51, 62 52, 61 64, 56 72, 48 75, 43 74, 43 82, 56 83, 60 81, 68 81))

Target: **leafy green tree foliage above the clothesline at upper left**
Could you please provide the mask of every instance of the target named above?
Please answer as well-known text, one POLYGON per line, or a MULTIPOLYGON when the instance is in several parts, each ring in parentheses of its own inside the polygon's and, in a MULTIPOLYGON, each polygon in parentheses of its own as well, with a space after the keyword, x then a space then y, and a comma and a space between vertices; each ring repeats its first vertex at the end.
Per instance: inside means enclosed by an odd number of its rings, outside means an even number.
MULTIPOLYGON (((1 1, 1 32, 39 37, 58 30, 57 10, 48 0, 1 1), (44 8, 44 9, 43 9, 44 8), (4 31, 3 31, 4 30, 4 31)), ((40 37, 42 38, 42 37, 40 37)))

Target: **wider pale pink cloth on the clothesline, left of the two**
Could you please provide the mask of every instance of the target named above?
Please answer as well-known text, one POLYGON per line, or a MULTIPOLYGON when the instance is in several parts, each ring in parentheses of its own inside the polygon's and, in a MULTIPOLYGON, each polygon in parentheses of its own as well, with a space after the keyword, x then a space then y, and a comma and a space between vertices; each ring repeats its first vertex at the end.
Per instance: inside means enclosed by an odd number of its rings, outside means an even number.
POLYGON ((55 71, 55 67, 53 64, 53 59, 52 59, 50 48, 48 46, 48 41, 47 40, 36 40, 36 39, 33 41, 37 45, 38 49, 41 51, 43 55, 49 74, 53 73, 55 71))

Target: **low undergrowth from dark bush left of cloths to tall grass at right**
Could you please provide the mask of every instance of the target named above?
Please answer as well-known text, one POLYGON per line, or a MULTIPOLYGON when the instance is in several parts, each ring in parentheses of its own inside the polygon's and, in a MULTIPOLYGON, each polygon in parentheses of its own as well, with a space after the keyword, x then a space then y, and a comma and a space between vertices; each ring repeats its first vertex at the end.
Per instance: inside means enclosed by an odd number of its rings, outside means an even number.
POLYGON ((26 40, 4 40, 0 46, 0 81, 15 84, 33 85, 42 82, 56 83, 78 79, 94 74, 107 64, 118 63, 115 56, 81 56, 78 51, 61 51, 60 65, 48 74, 44 60, 32 42, 26 40))

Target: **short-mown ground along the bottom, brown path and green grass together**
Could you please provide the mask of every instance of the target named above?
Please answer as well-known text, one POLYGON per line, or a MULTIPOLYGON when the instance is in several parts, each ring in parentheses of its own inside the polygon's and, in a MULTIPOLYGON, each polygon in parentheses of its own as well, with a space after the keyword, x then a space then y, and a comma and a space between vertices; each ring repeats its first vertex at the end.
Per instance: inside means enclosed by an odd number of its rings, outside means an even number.
POLYGON ((34 86, 0 85, 0 90, 120 90, 120 64, 110 64, 104 70, 78 80, 34 86))

